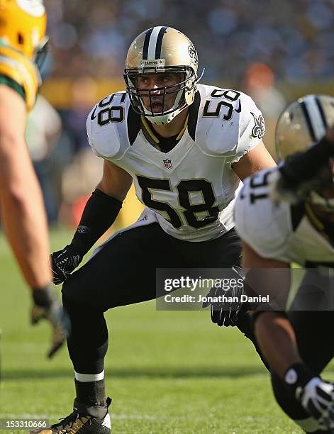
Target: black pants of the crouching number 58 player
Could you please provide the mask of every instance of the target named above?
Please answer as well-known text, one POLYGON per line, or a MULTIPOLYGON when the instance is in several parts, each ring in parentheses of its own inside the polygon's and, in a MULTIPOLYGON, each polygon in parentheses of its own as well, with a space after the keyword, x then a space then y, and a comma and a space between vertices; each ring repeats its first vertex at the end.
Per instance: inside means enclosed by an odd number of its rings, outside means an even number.
MULTIPOLYGON (((62 287, 72 323, 67 346, 74 369, 83 374, 104 369, 104 311, 155 299, 157 268, 230 268, 240 264, 240 250, 234 229, 215 240, 189 242, 167 235, 157 223, 131 228, 104 243, 62 287)), ((247 313, 238 327, 255 343, 247 313)))

